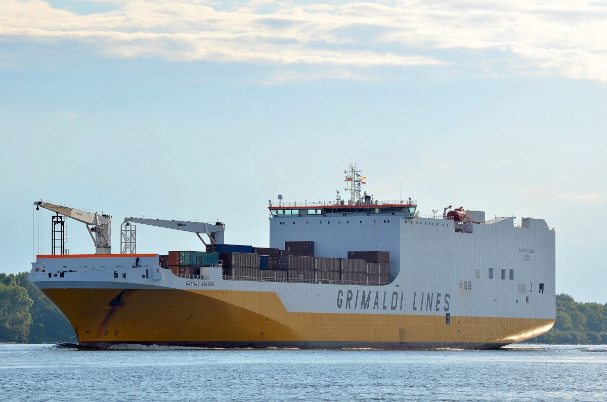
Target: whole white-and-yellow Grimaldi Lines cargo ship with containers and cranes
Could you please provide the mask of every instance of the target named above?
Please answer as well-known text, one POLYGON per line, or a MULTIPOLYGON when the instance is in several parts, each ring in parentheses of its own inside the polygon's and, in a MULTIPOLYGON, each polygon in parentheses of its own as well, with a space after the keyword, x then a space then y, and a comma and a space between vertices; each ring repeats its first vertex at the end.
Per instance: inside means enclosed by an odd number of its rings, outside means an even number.
POLYGON ((55 215, 29 278, 87 347, 496 349, 552 327, 545 220, 421 214, 367 195, 361 173, 344 171, 347 200, 270 200, 270 247, 226 244, 221 222, 126 217, 112 254, 111 216, 35 202, 55 215), (95 254, 67 253, 67 219, 95 254), (137 253, 141 224, 195 233, 200 250, 137 253))

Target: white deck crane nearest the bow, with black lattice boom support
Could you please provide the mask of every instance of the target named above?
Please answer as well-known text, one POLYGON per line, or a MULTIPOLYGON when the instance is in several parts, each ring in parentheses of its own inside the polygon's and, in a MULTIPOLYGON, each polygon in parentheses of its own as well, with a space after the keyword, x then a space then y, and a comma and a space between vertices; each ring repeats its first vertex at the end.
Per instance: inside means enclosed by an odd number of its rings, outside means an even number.
MULTIPOLYGON (((36 206, 36 210, 39 208, 44 208, 45 210, 53 211, 59 217, 59 215, 63 215, 78 222, 82 222, 86 224, 87 231, 90 234, 91 239, 95 242, 95 254, 112 254, 112 217, 101 213, 91 213, 83 210, 78 210, 77 208, 69 208, 67 206, 61 206, 52 204, 50 202, 36 201, 34 202, 36 206), (95 237, 93 237, 93 233, 95 233, 95 237)), ((55 244, 55 225, 57 220, 56 217, 53 217, 53 247, 52 251, 55 254, 55 248, 59 248, 61 250, 61 254, 63 254, 63 242, 65 239, 65 227, 61 225, 61 240, 60 245, 55 244)))

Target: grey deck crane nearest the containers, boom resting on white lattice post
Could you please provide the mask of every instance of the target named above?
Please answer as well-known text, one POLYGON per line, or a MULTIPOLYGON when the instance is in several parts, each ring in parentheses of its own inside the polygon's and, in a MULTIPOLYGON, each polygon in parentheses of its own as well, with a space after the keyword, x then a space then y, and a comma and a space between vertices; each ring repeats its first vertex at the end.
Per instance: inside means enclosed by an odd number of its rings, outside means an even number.
POLYGON ((190 222, 185 220, 166 220, 166 219, 151 219, 151 218, 134 218, 126 217, 120 225, 120 252, 123 254, 137 253, 137 237, 135 236, 135 225, 133 223, 142 223, 159 228, 167 228, 195 233, 198 239, 205 245, 206 242, 200 234, 209 236, 211 244, 223 244, 223 233, 225 225, 217 222, 214 225, 205 222, 190 222))

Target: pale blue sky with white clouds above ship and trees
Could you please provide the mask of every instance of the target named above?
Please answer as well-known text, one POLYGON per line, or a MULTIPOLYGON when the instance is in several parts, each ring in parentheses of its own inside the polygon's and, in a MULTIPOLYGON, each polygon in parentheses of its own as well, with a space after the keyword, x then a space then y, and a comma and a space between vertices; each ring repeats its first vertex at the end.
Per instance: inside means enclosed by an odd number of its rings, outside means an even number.
MULTIPOLYGON (((2 0, 0 271, 50 252, 36 200, 111 214, 116 252, 127 216, 264 247, 268 200, 331 200, 352 162, 421 213, 546 219, 557 293, 604 304, 605 21, 607 1, 2 0)), ((66 247, 95 250, 75 221, 66 247)))

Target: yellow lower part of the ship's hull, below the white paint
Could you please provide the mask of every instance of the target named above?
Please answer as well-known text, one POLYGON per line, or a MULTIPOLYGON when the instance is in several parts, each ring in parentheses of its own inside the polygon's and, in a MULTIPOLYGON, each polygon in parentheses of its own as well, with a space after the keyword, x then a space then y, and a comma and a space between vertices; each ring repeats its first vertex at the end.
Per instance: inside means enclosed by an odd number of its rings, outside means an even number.
POLYGON ((274 292, 41 288, 83 346, 493 349, 554 319, 288 312, 274 292))

